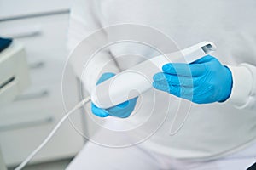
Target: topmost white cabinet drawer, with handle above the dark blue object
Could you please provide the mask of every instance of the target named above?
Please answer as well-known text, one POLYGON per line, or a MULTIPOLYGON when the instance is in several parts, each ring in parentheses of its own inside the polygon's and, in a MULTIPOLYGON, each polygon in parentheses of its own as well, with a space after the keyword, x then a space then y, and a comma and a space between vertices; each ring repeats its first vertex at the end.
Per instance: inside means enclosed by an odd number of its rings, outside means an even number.
POLYGON ((68 13, 0 22, 0 35, 14 37, 26 48, 29 63, 67 58, 68 13))

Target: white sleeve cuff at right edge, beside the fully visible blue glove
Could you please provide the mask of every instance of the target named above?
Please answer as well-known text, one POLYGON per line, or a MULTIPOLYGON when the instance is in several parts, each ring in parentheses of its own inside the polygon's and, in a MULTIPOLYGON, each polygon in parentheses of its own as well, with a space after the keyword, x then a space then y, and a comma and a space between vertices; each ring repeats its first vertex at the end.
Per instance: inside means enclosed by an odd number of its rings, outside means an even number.
POLYGON ((226 102, 238 109, 256 109, 256 66, 241 64, 228 66, 232 72, 233 88, 226 102))

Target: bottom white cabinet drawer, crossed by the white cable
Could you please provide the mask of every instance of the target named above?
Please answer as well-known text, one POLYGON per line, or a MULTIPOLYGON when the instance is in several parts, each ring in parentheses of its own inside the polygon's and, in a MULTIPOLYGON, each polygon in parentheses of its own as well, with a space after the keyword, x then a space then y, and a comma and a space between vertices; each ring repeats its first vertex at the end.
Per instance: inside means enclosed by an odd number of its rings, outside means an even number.
MULTIPOLYGON (((32 120, 37 125, 33 126, 32 122, 24 121, 26 125, 16 125, 19 128, 6 127, 6 129, 0 131, 0 144, 4 160, 8 166, 13 166, 23 161, 32 150, 35 150, 43 142, 55 124, 61 119, 61 116, 63 116, 60 110, 55 108, 48 108, 44 111, 37 110, 30 112, 26 116, 30 116, 32 119, 32 117, 35 117, 32 115, 33 113, 41 116, 37 116, 38 119, 32 120), (50 116, 53 113, 58 115, 50 116)), ((81 114, 74 113, 71 117, 74 125, 81 128, 81 114)), ((49 141, 49 144, 32 159, 32 163, 74 156, 81 150, 83 144, 84 139, 70 125, 70 122, 64 122, 55 137, 49 141)))

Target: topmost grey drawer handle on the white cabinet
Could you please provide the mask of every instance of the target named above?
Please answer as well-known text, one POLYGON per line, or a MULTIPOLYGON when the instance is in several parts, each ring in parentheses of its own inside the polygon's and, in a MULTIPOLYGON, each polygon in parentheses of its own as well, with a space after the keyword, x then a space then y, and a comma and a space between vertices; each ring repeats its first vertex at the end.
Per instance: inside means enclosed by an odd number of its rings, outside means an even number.
POLYGON ((40 26, 20 26, 9 31, 2 31, 3 37, 22 38, 35 37, 42 33, 40 26))

